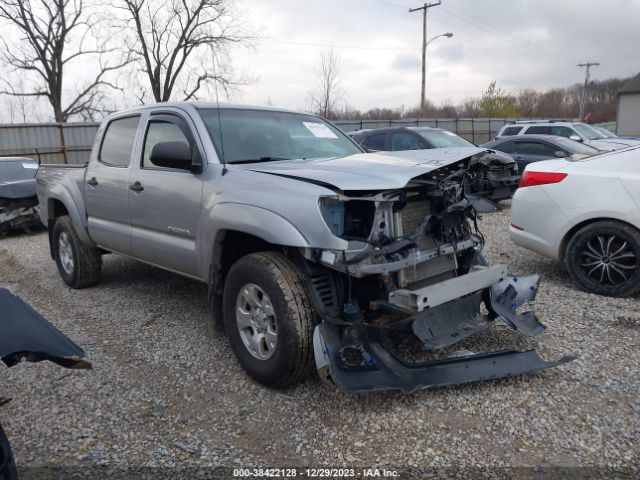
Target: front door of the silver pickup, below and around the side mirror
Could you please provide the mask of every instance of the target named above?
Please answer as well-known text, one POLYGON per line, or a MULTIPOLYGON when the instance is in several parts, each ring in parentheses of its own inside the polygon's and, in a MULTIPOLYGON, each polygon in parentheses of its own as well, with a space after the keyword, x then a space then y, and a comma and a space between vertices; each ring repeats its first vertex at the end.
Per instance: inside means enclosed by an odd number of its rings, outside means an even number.
POLYGON ((152 114, 144 127, 128 194, 134 256, 197 277, 203 174, 160 167, 149 158, 157 143, 168 141, 186 142, 192 155, 203 158, 194 131, 189 119, 177 112, 152 114))

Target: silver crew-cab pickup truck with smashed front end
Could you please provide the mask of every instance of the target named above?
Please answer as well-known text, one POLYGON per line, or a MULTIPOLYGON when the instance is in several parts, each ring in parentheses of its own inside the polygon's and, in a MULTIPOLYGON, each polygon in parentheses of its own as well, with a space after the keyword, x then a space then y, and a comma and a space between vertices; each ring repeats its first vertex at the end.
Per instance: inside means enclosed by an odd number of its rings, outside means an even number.
POLYGON ((545 329, 525 308, 539 278, 481 255, 481 199, 462 185, 483 152, 392 158, 313 115, 166 103, 107 118, 88 164, 42 166, 37 190, 72 288, 98 282, 103 255, 126 255, 206 282, 259 382, 282 387, 315 365, 345 390, 412 391, 570 360, 456 346, 497 319, 545 329))

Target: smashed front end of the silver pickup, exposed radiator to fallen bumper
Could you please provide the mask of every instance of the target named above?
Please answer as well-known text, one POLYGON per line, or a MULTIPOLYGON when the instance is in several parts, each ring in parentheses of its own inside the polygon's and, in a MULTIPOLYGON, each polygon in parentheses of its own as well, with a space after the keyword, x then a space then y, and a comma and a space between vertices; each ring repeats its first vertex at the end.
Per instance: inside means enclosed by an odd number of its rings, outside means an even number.
POLYGON ((540 278, 510 276, 482 256, 483 200, 464 192, 476 161, 422 162, 402 188, 335 188, 320 199, 325 223, 348 245, 304 250, 322 317, 314 350, 324 380, 348 391, 410 392, 572 360, 545 361, 535 350, 453 351, 493 322, 527 337, 545 330, 529 308, 540 278), (431 359, 404 355, 399 336, 412 337, 431 359))

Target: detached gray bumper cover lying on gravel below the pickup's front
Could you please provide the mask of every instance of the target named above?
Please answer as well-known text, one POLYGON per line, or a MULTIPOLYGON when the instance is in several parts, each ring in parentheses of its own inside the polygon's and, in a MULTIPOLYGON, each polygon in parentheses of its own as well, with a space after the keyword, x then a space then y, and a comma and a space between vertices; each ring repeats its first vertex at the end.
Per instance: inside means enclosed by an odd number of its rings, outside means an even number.
POLYGON ((503 350, 472 354, 428 363, 407 364, 383 345, 382 332, 370 325, 357 325, 358 342, 364 354, 358 365, 347 365, 340 327, 329 322, 314 332, 316 366, 320 377, 345 391, 416 390, 480 382, 522 375, 573 360, 565 356, 544 361, 535 350, 503 350))

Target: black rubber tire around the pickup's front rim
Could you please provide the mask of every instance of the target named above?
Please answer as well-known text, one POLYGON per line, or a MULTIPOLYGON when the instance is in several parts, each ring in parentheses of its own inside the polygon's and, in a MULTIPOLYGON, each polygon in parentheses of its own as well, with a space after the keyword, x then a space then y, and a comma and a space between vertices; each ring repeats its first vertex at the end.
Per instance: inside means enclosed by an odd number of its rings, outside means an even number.
MULTIPOLYGON (((289 258, 276 252, 242 257, 227 274, 223 297, 227 337, 240 364, 252 378, 269 387, 281 388, 302 381, 313 372, 316 314, 302 275, 289 258), (266 359, 257 358, 250 347, 245 346, 236 320, 236 303, 240 302, 241 289, 248 285, 257 286, 266 294, 275 313, 266 319, 277 333, 275 347, 266 359)), ((255 326, 244 330, 244 335, 252 328, 255 326)))

